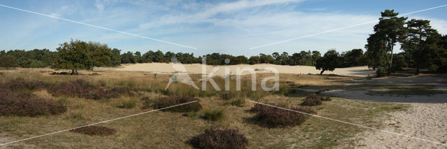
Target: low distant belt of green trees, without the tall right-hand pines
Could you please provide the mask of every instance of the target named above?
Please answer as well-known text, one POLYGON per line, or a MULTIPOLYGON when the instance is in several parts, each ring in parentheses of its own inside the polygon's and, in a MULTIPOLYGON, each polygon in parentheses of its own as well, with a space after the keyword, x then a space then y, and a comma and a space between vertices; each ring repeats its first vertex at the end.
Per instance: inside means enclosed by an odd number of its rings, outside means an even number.
MULTIPOLYGON (((202 63, 206 57, 206 64, 223 65, 225 59, 230 59, 229 64, 279 64, 279 65, 305 65, 316 66, 321 53, 314 51, 273 52, 271 55, 259 54, 249 58, 244 55, 233 56, 214 52, 212 54, 195 57, 193 53, 161 52, 161 50, 149 50, 141 52, 124 52, 117 48, 109 48, 106 44, 92 41, 71 40, 59 44, 56 52, 47 49, 39 50, 9 50, 0 51, 0 67, 24 67, 39 68, 50 66, 52 69, 68 69, 71 73, 78 73, 79 69, 93 70, 95 66, 119 66, 120 64, 135 64, 149 62, 170 62, 171 57, 176 57, 183 64, 202 63)), ((363 66, 366 64, 362 49, 353 49, 337 52, 336 67, 363 66)))

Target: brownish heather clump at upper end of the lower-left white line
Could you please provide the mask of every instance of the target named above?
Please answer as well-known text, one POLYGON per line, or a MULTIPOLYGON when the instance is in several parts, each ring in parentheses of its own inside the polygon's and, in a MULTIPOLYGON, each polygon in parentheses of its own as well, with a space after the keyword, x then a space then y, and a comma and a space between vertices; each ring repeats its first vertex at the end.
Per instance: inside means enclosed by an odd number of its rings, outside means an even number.
POLYGON ((198 103, 199 99, 194 97, 177 97, 177 96, 170 96, 170 97, 161 97, 156 100, 148 100, 145 101, 143 108, 153 108, 153 109, 159 109, 159 108, 165 108, 161 111, 170 111, 170 112, 176 112, 176 113, 186 113, 191 111, 199 111, 202 106, 198 103), (190 104, 185 104, 191 101, 196 101, 190 104), (176 106, 179 104, 184 104, 181 106, 176 106), (166 108, 174 106, 172 108, 166 108))

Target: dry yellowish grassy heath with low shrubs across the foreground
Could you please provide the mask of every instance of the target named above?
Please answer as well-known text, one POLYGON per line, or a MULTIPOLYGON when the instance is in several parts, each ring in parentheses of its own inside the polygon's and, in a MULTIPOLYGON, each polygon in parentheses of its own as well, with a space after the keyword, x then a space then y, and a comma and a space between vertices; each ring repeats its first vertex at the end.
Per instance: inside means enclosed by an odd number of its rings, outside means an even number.
MULTIPOLYGON (((85 75, 63 76, 50 75, 52 72, 48 69, 16 69, 1 70, 1 72, 0 83, 22 81, 25 86, 28 85, 24 88, 31 92, 30 97, 36 99, 45 97, 45 101, 50 101, 50 104, 44 104, 62 105, 66 107, 66 110, 57 115, 45 114, 35 117, 3 115, 0 117, 0 134, 7 134, 7 137, 0 143, 173 106, 171 104, 198 101, 189 106, 179 106, 170 110, 166 109, 166 111, 106 122, 101 124, 100 129, 94 127, 85 128, 87 130, 75 129, 76 131, 22 141, 11 144, 8 146, 10 148, 29 146, 33 148, 103 148, 104 146, 110 148, 193 148, 196 145, 190 142, 191 139, 196 142, 212 139, 222 144, 237 144, 241 148, 246 145, 249 148, 329 148, 340 143, 353 146, 353 141, 349 138, 364 129, 281 111, 278 108, 263 107, 251 113, 250 110, 253 107, 260 106, 255 106, 248 100, 271 103, 369 127, 380 127, 374 119, 383 113, 406 107, 402 104, 381 104, 335 97, 331 98, 332 101, 323 101, 318 106, 303 107, 301 106, 303 99, 312 93, 295 92, 285 86, 281 86, 279 92, 251 91, 249 76, 242 77, 246 79, 242 81, 243 92, 214 91, 210 84, 207 85, 209 90, 204 92, 181 83, 174 83, 168 90, 164 90, 169 76, 163 74, 96 71, 98 75, 87 75, 91 72, 80 71, 85 75), (34 83, 43 85, 41 87, 34 83), (60 86, 61 89, 58 89, 54 88, 54 85, 68 85, 71 88, 60 86), (90 87, 90 90, 83 90, 85 87, 90 87), (117 88, 119 90, 116 90, 117 88), (93 94, 103 94, 105 98, 102 98, 102 95, 94 97, 93 94), (101 135, 103 127, 116 132, 112 131, 114 133, 108 136, 101 135), (209 129, 210 127, 215 129, 209 129), (78 131, 87 131, 93 135, 99 133, 99 136, 73 133, 78 131), (214 135, 217 134, 237 136, 240 140, 233 142, 225 138, 216 140, 214 135), (244 138, 248 139, 247 143, 244 138)), ((266 76, 269 75, 258 75, 258 84, 266 76)), ((198 75, 193 75, 191 78, 200 80, 198 75)), ((289 86, 339 85, 339 81, 335 80, 346 79, 339 76, 291 74, 281 74, 280 78, 281 84, 289 86)), ((223 87, 223 78, 215 78, 215 80, 223 87)), ((201 83, 196 82, 196 84, 200 87, 201 83)), ((235 83, 232 82, 231 85, 234 88, 235 83)), ((14 89, 6 92, 21 91, 14 89)), ((196 147, 200 148, 200 146, 196 147)))

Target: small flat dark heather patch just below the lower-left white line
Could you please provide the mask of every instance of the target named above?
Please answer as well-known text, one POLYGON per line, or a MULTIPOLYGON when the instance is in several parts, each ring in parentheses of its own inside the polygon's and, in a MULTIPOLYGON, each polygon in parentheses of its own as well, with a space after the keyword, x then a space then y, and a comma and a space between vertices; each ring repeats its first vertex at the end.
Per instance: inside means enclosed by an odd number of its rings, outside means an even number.
POLYGON ((69 132, 87 134, 89 136, 109 136, 116 134, 117 131, 115 129, 103 126, 86 126, 78 129, 71 129, 69 132))

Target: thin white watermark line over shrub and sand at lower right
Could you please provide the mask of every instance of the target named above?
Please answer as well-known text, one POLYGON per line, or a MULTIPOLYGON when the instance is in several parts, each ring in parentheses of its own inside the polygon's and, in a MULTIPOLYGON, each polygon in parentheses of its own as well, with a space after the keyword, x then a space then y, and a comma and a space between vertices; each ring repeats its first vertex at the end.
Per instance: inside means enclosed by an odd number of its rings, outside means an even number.
MULTIPOLYGON (((263 104, 263 103, 256 102, 256 101, 250 101, 250 102, 253 102, 253 103, 255 103, 255 104, 262 104, 262 105, 265 105, 265 106, 272 106, 272 105, 269 105, 269 104, 263 104)), ((279 106, 272 106, 272 107, 274 107, 274 108, 281 108, 281 109, 286 110, 286 111, 292 111, 292 112, 302 113, 302 114, 305 114, 305 115, 311 115, 311 116, 314 116, 314 117, 317 117, 317 118, 324 118, 324 119, 326 119, 326 120, 332 120, 332 121, 336 121, 336 122, 342 122, 342 123, 344 123, 344 124, 354 125, 354 126, 357 126, 357 127, 363 127, 363 128, 367 128, 367 129, 377 130, 377 131, 380 131, 380 132, 386 132, 386 133, 390 133, 390 134, 395 134, 395 135, 398 135, 398 136, 405 136, 405 137, 408 137, 408 138, 411 138, 411 139, 417 139, 417 140, 421 140, 421 141, 427 141, 427 142, 435 143, 435 144, 438 144, 438 145, 441 145, 441 146, 447 146, 446 143, 439 143, 439 142, 436 142, 436 141, 430 141, 430 140, 427 140, 427 139, 420 139, 420 138, 416 138, 416 137, 413 137, 413 136, 408 136, 408 135, 405 135, 405 134, 399 134, 399 133, 396 133, 396 132, 390 132, 390 131, 386 131, 386 130, 382 130, 382 129, 376 129, 376 128, 373 128, 373 127, 367 127, 367 126, 363 126, 363 125, 358 125, 358 124, 354 124, 354 123, 351 123, 351 122, 344 122, 344 121, 342 121, 342 120, 335 120, 335 119, 332 119, 332 118, 326 118, 326 117, 323 117, 323 116, 320 116, 320 115, 314 115, 314 114, 304 113, 304 112, 301 112, 301 111, 294 111, 294 110, 291 110, 291 109, 288 109, 288 108, 282 108, 282 107, 279 107, 279 106)))

